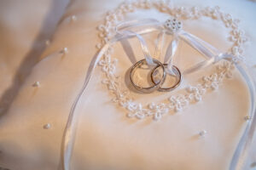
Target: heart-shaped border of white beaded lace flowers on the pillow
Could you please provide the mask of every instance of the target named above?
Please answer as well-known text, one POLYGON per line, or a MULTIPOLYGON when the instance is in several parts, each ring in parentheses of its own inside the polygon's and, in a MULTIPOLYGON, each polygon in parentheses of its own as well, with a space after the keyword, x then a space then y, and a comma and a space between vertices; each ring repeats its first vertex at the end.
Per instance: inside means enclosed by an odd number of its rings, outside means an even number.
MULTIPOLYGON (((128 112, 128 117, 143 119, 146 116, 151 116, 154 120, 159 120, 169 111, 182 111, 187 105, 201 101, 203 94, 210 90, 217 90, 218 86, 224 81, 224 78, 232 77, 232 70, 235 68, 234 63, 238 59, 242 59, 242 44, 247 41, 247 37, 244 36, 244 31, 241 31, 238 27, 239 20, 233 19, 230 14, 223 13, 218 7, 172 8, 168 3, 148 0, 123 3, 119 8, 108 12, 105 18, 105 23, 98 26, 101 42, 96 45, 96 48, 102 48, 102 46, 115 35, 116 32, 114 28, 116 24, 124 19, 125 14, 131 13, 137 8, 156 8, 160 12, 170 14, 172 17, 179 20, 196 20, 201 17, 210 17, 212 20, 222 20, 224 26, 231 30, 229 40, 233 42, 233 45, 231 46, 229 53, 235 55, 236 59, 221 62, 214 73, 202 77, 201 83, 186 88, 185 94, 172 95, 169 99, 166 99, 165 102, 159 104, 150 103, 143 106, 143 104, 137 103, 131 99, 128 89, 122 88, 124 86, 122 86, 119 77, 115 73, 118 60, 111 58, 113 48, 108 48, 107 52, 99 62, 99 65, 102 66, 102 72, 105 74, 102 83, 106 84, 108 90, 114 94, 113 102, 125 108, 128 112)), ((173 20, 170 20, 170 23, 172 21, 173 20)), ((175 26, 179 26, 176 21, 175 26)))

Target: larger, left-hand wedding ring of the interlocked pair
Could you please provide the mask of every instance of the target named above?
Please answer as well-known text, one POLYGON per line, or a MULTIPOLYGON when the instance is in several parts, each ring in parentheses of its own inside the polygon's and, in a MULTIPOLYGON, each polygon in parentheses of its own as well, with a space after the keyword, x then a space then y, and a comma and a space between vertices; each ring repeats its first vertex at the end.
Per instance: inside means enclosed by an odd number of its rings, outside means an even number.
POLYGON ((166 79, 166 71, 165 71, 164 65, 159 60, 157 60, 157 59, 153 59, 153 62, 154 62, 154 64, 156 64, 156 66, 154 67, 153 70, 155 70, 156 68, 161 68, 162 75, 160 76, 160 81, 159 82, 153 82, 153 85, 150 86, 150 87, 147 87, 147 88, 143 88, 142 86, 140 86, 139 84, 134 82, 134 79, 133 79, 134 73, 137 71, 138 68, 140 68, 142 65, 148 65, 146 59, 142 59, 142 60, 138 61, 131 68, 131 72, 130 72, 131 84, 140 92, 147 93, 147 94, 148 93, 152 93, 155 90, 159 89, 160 86, 162 85, 162 83, 166 79))

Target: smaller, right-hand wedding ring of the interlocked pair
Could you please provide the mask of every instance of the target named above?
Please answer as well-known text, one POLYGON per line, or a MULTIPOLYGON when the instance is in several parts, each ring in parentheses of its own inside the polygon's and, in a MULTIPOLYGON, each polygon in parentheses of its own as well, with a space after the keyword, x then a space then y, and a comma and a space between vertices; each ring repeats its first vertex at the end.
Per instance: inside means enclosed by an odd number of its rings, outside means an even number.
MULTIPOLYGON (((164 64, 164 67, 165 67, 165 69, 167 68, 167 64, 164 64)), ((154 70, 151 72, 151 80, 152 80, 152 82, 154 82, 154 84, 156 84, 156 83, 158 83, 160 80, 158 79, 158 80, 156 80, 156 71, 158 70, 158 68, 159 68, 159 66, 156 66, 155 68, 154 68, 154 70)), ((178 68, 177 68, 177 66, 175 66, 175 65, 172 65, 172 70, 173 70, 173 72, 175 73, 175 75, 173 75, 173 76, 175 76, 176 77, 176 82, 172 85, 172 87, 170 87, 170 88, 162 88, 162 87, 160 87, 158 90, 159 91, 161 91, 161 92, 169 92, 169 91, 172 91, 174 88, 177 88, 178 86, 179 86, 179 84, 180 84, 180 82, 181 82, 181 80, 182 80, 182 76, 181 76, 181 73, 180 73, 180 71, 178 70, 178 68)), ((165 79, 166 80, 166 79, 165 79)), ((162 83, 161 83, 161 85, 162 85, 162 83)))

